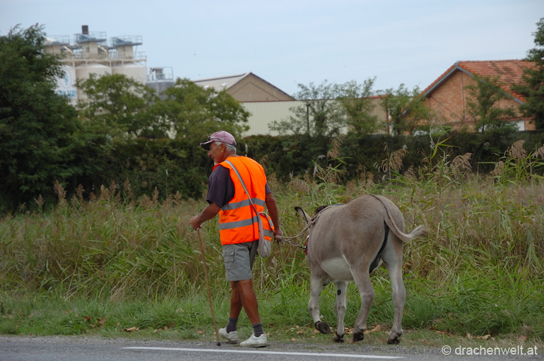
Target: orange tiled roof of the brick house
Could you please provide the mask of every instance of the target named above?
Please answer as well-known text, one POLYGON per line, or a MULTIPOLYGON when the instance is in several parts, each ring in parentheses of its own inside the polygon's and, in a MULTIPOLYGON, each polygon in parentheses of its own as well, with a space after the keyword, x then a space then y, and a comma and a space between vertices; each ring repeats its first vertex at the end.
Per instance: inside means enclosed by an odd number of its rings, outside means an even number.
POLYGON ((488 60, 488 61, 457 61, 454 65, 450 66, 437 80, 432 82, 422 94, 427 96, 436 88, 440 83, 445 81, 455 71, 466 71, 471 75, 485 77, 489 76, 491 79, 498 77, 501 88, 512 95, 518 100, 525 102, 525 97, 519 93, 514 92, 511 86, 514 84, 522 83, 521 76, 524 69, 532 68, 533 63, 524 60, 488 60))

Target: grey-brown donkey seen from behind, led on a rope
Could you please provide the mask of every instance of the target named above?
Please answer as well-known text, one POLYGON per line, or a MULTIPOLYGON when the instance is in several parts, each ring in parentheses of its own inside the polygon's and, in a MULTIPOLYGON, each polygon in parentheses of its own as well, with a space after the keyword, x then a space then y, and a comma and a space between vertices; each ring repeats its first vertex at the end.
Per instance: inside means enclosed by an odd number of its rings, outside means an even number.
POLYGON ((401 211, 383 196, 365 195, 345 205, 329 206, 313 219, 300 207, 295 207, 295 211, 307 223, 313 223, 307 240, 310 268, 308 309, 315 328, 321 333, 331 332, 329 325, 319 317, 319 295, 330 280, 336 283, 337 288, 334 310, 338 325, 333 341, 343 342, 345 294, 348 281, 353 280, 361 297, 361 309, 353 327, 353 342, 361 341, 375 295, 369 273, 383 260, 391 278, 395 306, 387 343, 398 343, 403 332, 401 321, 406 299, 402 280, 403 242, 427 235, 425 227, 418 226, 412 232, 404 233, 401 211))

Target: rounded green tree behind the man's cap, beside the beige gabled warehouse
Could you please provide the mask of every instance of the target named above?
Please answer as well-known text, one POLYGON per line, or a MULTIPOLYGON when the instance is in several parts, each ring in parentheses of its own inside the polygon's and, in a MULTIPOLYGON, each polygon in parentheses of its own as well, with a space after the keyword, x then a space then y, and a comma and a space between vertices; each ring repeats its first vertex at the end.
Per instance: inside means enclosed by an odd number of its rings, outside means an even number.
POLYGON ((171 122, 176 139, 203 139, 218 130, 240 136, 249 129, 249 112, 226 90, 218 92, 177 78, 175 86, 162 94, 165 100, 157 102, 154 113, 171 122))

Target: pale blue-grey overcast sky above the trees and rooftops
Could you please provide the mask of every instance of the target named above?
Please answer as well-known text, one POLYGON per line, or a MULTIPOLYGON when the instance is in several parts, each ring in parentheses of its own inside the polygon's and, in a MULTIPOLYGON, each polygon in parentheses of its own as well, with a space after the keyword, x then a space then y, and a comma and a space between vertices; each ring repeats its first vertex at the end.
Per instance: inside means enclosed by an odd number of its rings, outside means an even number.
POLYGON ((426 88, 456 61, 523 59, 543 0, 0 0, 0 35, 141 35, 147 66, 213 78, 252 71, 297 84, 376 77, 374 90, 426 88))

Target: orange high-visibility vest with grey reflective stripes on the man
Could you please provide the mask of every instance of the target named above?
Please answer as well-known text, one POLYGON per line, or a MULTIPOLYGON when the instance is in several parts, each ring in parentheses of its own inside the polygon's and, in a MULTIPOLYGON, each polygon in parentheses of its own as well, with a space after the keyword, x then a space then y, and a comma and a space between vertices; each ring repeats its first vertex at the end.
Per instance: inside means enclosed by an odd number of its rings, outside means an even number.
MULTIPOLYGON (((249 196, 258 212, 264 212, 266 175, 261 165, 247 157, 229 157, 228 161, 236 167, 246 185, 249 196)), ((235 185, 235 196, 219 211, 219 236, 221 244, 252 242, 259 239, 259 225, 252 204, 249 202, 244 187, 235 170, 227 162, 220 165, 230 172, 230 179, 235 185)), ((218 165, 215 165, 217 167, 218 165)), ((215 170, 215 167, 213 169, 215 170)), ((273 225, 265 215, 261 215, 264 226, 264 238, 273 237, 273 225)))

